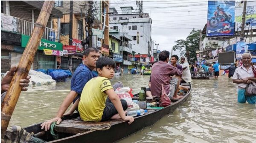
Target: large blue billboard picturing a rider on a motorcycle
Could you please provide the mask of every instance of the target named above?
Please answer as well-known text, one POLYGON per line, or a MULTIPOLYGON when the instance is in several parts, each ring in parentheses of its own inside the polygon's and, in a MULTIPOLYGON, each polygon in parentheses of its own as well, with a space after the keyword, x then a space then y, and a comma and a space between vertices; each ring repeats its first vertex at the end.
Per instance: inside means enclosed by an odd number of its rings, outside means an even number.
POLYGON ((207 36, 234 35, 235 1, 208 1, 207 36))

